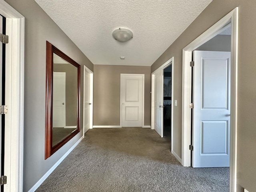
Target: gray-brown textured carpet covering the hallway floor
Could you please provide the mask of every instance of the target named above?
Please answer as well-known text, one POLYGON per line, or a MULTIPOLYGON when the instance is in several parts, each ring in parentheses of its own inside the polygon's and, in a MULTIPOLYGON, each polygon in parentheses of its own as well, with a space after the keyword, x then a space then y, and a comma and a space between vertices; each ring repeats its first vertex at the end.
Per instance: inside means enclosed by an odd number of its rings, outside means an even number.
POLYGON ((228 192, 229 168, 183 167, 150 128, 94 128, 37 192, 228 192))

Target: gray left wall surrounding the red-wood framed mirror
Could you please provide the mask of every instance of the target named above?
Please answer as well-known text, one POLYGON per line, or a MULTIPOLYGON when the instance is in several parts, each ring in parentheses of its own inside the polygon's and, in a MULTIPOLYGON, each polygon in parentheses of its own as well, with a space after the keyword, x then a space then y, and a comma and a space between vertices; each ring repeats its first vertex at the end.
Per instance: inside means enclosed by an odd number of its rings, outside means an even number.
MULTIPOLYGON (((25 17, 24 192, 26 192, 82 137, 81 131, 50 158, 44 160, 46 40, 78 64, 86 65, 91 70, 93 64, 34 0, 6 0, 6 2, 25 17)), ((83 68, 81 68, 81 109, 82 77, 83 68)))

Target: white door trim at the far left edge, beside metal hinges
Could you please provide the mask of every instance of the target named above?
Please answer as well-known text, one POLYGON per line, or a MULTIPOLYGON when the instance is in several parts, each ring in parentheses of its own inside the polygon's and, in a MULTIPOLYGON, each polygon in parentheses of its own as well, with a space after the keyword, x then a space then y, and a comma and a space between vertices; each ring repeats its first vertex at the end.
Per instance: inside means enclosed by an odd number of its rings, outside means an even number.
POLYGON ((25 18, 0 0, 0 14, 6 17, 6 105, 4 173, 5 192, 23 191, 23 125, 24 125, 24 21, 25 18))

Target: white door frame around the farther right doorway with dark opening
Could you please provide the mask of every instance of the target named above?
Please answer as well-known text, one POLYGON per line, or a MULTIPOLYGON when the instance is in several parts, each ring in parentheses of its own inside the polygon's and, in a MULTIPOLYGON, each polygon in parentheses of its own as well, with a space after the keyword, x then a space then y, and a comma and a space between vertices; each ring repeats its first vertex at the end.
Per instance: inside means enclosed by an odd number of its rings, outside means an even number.
MULTIPOLYGON (((172 65, 172 107, 171 107, 171 151, 173 149, 172 146, 172 142, 173 142, 173 90, 174 90, 174 57, 170 58, 168 61, 166 61, 164 64, 162 64, 159 68, 157 68, 156 70, 154 70, 154 72, 151 73, 151 129, 155 129, 154 125, 155 125, 155 74, 157 72, 159 72, 160 70, 164 70, 166 67, 172 65)), ((162 81, 162 87, 164 86, 164 81, 162 81)), ((164 97, 164 95, 162 94, 162 97, 164 97)), ((162 130, 163 131, 164 127, 162 126, 162 130)))

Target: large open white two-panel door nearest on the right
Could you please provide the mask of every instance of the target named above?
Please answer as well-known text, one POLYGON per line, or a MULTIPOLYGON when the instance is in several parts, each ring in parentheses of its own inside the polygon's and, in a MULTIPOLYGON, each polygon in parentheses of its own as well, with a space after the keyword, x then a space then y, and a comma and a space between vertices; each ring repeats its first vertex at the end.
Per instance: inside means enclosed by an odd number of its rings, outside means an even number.
POLYGON ((194 51, 192 166, 230 166, 230 52, 194 51))

